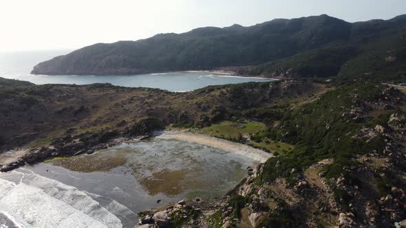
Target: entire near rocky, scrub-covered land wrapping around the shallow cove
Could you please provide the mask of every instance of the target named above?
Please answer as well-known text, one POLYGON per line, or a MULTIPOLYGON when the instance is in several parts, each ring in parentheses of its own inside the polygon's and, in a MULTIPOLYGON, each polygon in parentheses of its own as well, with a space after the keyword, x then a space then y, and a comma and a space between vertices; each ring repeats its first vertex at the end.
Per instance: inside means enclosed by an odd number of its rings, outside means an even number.
POLYGON ((248 141, 296 146, 247 168, 248 178, 224 198, 142 212, 140 227, 405 226, 406 95, 394 87, 290 79, 188 93, 109 84, 0 88, 1 148, 28 148, 3 172, 169 124, 201 128, 236 117, 266 123, 248 141))

